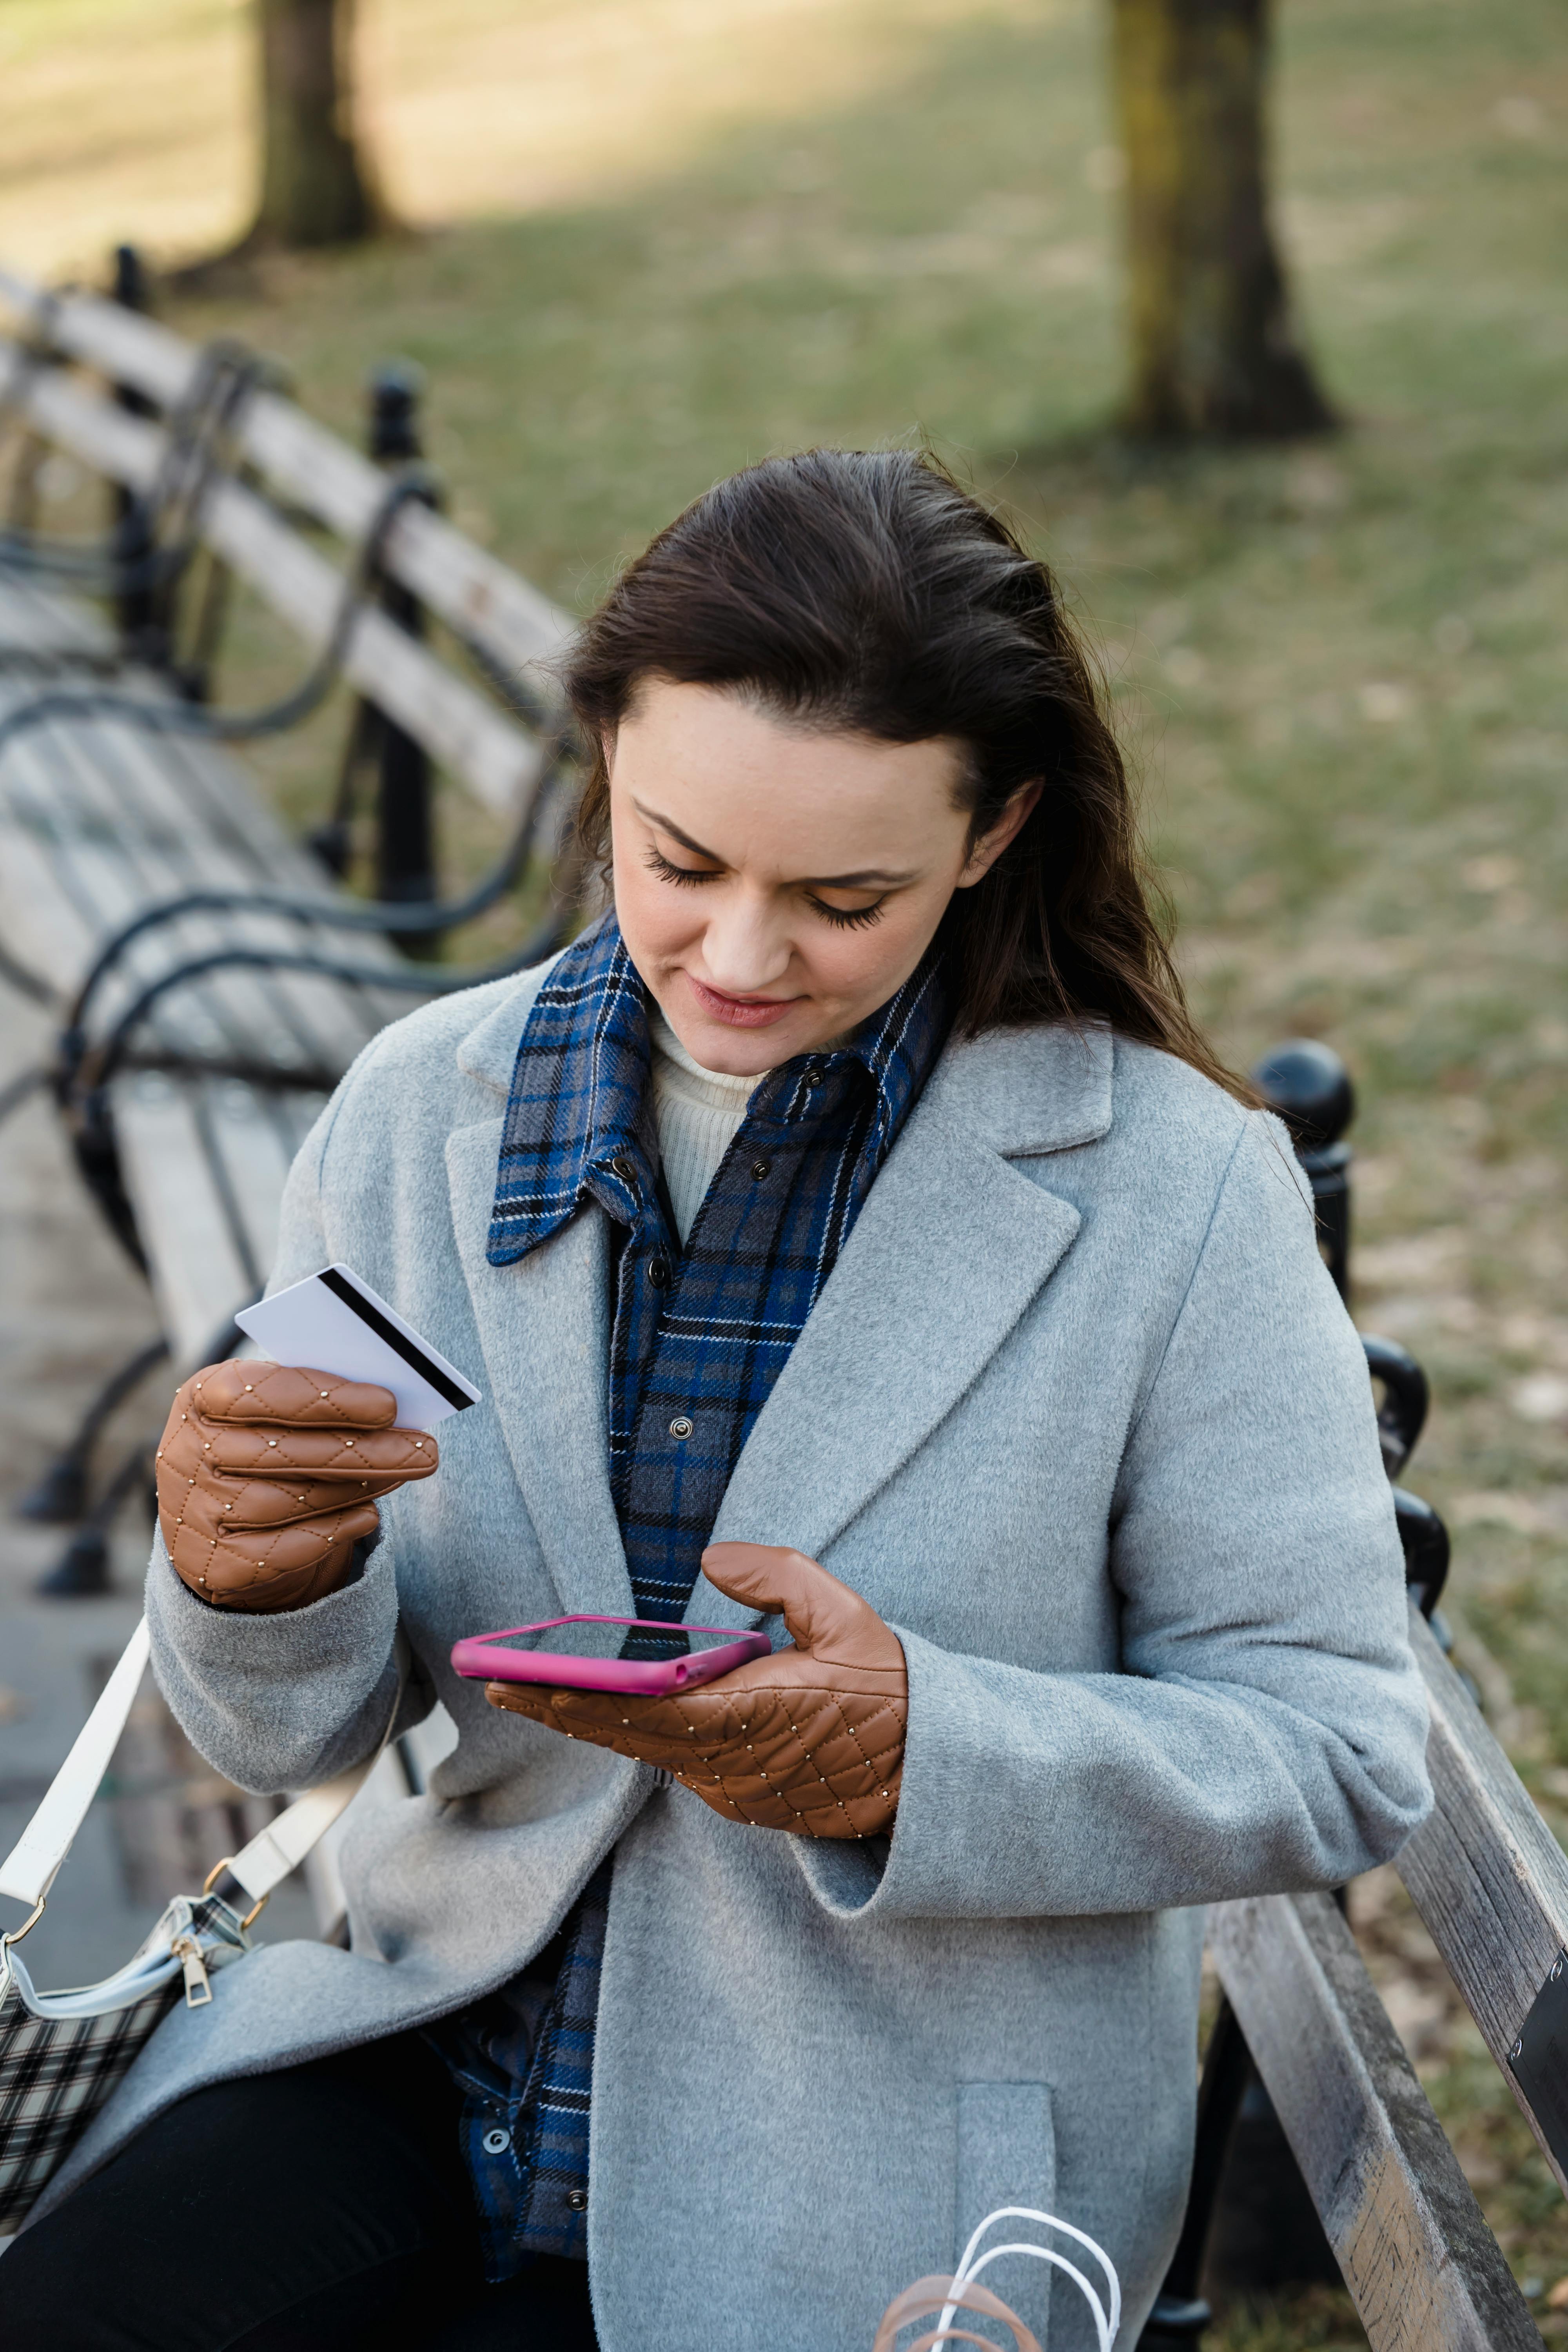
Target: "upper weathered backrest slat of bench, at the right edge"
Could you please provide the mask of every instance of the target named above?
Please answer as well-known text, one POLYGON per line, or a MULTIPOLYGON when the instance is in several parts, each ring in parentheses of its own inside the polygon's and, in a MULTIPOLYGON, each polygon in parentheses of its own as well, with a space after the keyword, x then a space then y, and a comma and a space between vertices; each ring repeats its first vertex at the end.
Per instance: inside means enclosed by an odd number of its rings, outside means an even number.
POLYGON ((1568 2150, 1552 2147, 1509 2065, 1552 1964, 1568 1945, 1568 1858, 1418 1611, 1410 1611, 1410 1639, 1432 1700, 1434 1809, 1394 1867, 1568 2192, 1568 2150))

